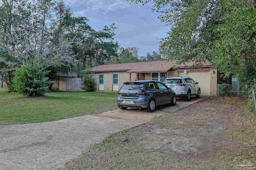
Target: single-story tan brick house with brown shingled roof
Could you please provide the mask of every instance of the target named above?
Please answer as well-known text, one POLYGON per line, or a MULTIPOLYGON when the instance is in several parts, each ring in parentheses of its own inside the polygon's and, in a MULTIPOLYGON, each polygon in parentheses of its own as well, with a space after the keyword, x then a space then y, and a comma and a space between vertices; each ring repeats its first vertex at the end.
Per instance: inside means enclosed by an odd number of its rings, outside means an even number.
POLYGON ((106 64, 92 68, 97 91, 118 92, 126 81, 158 80, 167 77, 190 76, 198 82, 202 96, 217 95, 217 70, 209 63, 202 68, 191 69, 193 63, 176 66, 173 61, 150 61, 140 63, 106 64))

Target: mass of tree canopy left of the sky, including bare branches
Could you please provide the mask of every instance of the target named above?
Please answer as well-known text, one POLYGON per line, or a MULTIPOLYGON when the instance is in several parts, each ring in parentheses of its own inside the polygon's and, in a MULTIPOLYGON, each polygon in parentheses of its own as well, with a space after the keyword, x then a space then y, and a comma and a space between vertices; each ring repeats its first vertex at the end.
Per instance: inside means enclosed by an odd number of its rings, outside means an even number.
POLYGON ((0 18, 4 70, 37 63, 42 69, 72 65, 79 71, 117 56, 114 24, 96 31, 64 0, 1 0, 0 18))

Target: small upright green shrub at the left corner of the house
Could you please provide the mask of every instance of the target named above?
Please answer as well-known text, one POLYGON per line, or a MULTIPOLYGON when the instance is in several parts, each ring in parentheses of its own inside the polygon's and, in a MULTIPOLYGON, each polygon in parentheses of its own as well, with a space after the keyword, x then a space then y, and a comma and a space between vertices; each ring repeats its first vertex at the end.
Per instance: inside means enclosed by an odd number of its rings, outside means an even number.
POLYGON ((87 69, 85 72, 81 72, 80 77, 82 81, 82 89, 86 92, 94 92, 96 90, 96 82, 92 78, 94 74, 87 69))

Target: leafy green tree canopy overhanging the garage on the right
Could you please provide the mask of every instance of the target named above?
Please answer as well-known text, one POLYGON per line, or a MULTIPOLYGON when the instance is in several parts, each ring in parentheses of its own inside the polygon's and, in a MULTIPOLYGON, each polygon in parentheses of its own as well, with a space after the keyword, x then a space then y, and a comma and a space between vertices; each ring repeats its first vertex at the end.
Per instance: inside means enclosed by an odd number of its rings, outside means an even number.
POLYGON ((245 92, 256 86, 255 0, 130 0, 152 3, 170 25, 160 52, 177 64, 208 61, 223 76, 237 77, 245 92))

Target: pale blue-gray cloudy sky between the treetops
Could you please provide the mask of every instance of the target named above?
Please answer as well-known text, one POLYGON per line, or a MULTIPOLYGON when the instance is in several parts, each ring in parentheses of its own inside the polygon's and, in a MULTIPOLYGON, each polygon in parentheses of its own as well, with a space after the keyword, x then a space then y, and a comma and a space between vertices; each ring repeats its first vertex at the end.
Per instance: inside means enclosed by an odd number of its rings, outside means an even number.
POLYGON ((158 52, 160 39, 166 37, 170 26, 161 23, 151 4, 130 4, 126 0, 66 0, 75 16, 88 18, 96 31, 115 23, 114 41, 120 47, 137 47, 139 56, 158 52))

